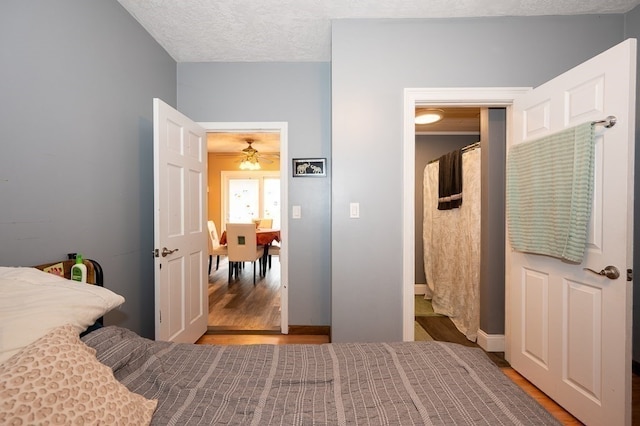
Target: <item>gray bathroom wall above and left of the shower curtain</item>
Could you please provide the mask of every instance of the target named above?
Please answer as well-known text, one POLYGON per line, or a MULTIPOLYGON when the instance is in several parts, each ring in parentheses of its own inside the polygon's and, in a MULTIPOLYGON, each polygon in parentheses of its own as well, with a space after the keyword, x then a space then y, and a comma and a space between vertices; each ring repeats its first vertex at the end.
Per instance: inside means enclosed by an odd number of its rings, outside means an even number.
POLYGON ((425 284, 427 277, 424 273, 424 241, 422 239, 422 214, 423 214, 423 178, 424 168, 431 160, 462 148, 480 140, 480 135, 416 135, 416 172, 415 172, 415 283, 425 284))

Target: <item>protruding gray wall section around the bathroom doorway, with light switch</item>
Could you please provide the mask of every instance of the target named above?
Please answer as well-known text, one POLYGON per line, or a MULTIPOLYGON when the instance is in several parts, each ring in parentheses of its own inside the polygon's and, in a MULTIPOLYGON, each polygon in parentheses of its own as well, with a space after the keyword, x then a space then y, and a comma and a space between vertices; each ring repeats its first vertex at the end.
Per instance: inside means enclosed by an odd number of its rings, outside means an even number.
POLYGON ((333 22, 333 341, 402 339, 403 89, 537 86, 621 42, 623 18, 333 22))

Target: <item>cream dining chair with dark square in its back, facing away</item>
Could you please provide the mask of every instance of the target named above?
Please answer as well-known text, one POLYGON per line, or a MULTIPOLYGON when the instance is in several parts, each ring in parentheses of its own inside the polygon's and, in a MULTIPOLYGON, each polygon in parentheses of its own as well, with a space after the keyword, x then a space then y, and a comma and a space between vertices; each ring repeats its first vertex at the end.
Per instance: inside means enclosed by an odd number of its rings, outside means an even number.
MULTIPOLYGON (((227 250, 229 259, 229 284, 233 272, 236 277, 243 262, 253 263, 253 284, 256 283, 256 261, 264 256, 264 247, 256 241, 256 226, 253 223, 227 223, 227 250)), ((262 268, 260 268, 262 273, 262 268)))

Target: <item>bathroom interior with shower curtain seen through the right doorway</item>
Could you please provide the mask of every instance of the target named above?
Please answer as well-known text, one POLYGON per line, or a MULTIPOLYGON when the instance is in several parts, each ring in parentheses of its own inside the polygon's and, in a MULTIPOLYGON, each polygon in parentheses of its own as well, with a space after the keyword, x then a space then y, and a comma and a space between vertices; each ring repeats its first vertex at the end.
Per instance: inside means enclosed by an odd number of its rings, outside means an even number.
MULTIPOLYGON (((416 108, 416 116, 423 112, 416 108)), ((427 110, 428 111, 428 110, 427 110)), ((440 120, 416 124, 415 137, 415 340, 434 324, 453 326, 475 342, 480 277, 480 127, 487 111, 479 107, 438 108, 440 120), (483 118, 483 120, 481 120, 483 118), (463 202, 439 209, 439 158, 460 152, 463 202), (460 244, 465 241, 464 244, 460 244), (428 277, 428 279, 427 279, 428 277), (446 316, 448 321, 442 318, 446 316)), ((486 132, 485 132, 486 134, 486 132)), ((449 158, 449 157, 448 157, 449 158)), ((453 174, 453 170, 452 174, 453 174)))

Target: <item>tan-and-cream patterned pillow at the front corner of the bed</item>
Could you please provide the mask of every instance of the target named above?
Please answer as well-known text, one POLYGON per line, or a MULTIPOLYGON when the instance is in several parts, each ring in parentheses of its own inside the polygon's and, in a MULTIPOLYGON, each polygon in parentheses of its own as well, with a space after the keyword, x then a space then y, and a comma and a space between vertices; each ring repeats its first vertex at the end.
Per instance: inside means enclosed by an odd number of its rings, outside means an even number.
POLYGON ((158 401, 130 392, 95 354, 66 325, 0 364, 0 424, 148 425, 158 401))

